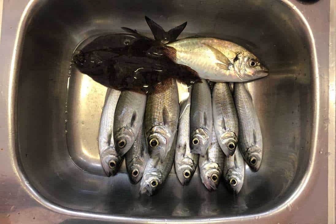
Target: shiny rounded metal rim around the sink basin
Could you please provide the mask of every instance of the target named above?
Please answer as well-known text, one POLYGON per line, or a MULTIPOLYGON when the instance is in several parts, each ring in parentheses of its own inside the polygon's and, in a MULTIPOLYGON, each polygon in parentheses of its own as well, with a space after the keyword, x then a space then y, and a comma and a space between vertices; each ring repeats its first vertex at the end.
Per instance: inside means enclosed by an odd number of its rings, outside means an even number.
POLYGON ((311 132, 311 148, 310 148, 310 155, 309 158, 311 158, 307 171, 305 172, 304 176, 302 177, 301 183, 298 185, 298 187, 291 193, 291 195, 284 201, 282 204, 280 204, 277 207, 274 207, 267 212, 263 213, 257 213, 253 215, 244 215, 244 216, 235 216, 235 217, 216 217, 216 218, 143 218, 138 216, 128 217, 128 216, 122 216, 122 215, 112 215, 112 214, 104 214, 104 213, 94 213, 94 212, 86 212, 81 210, 75 210, 75 209, 69 209, 63 206, 60 206, 56 203, 53 203, 46 199, 43 195, 41 195, 37 189, 30 184, 29 178, 23 168, 23 165, 21 163, 19 153, 18 153, 18 140, 17 140, 17 124, 16 124, 16 96, 17 96, 17 78, 18 78, 18 71, 17 68, 19 67, 19 55, 22 52, 22 40, 24 39, 24 33, 27 25, 27 21, 29 18, 29 15, 31 14, 31 11, 35 9, 35 6, 41 2, 38 0, 30 0, 27 6, 25 7, 23 14, 19 20, 18 29, 15 37, 15 43, 14 43, 14 49, 13 49, 13 55, 10 65, 10 75, 9 75, 9 94, 8 94, 8 128, 9 128, 9 151, 10 151, 10 157, 12 162, 13 170, 18 177, 20 184, 23 186, 23 188, 29 193, 30 196, 32 196, 37 202, 42 204, 43 206, 47 207, 48 209, 71 216, 77 216, 77 217, 83 217, 83 218, 94 218, 94 219, 100 219, 100 220, 109 220, 109 221, 118 221, 118 222, 137 222, 137 223, 145 223, 145 222, 181 222, 183 220, 184 222, 191 222, 191 223, 198 223, 198 222, 223 222, 223 221, 238 221, 241 219, 249 220, 254 219, 256 216, 259 216, 260 218, 269 216, 269 215, 275 215, 277 213, 280 213, 283 211, 288 204, 292 204, 294 201, 297 200, 297 198, 303 193, 303 191, 306 189, 307 184, 309 183, 309 180, 312 175, 312 171, 314 169, 315 164, 315 157, 316 157, 316 151, 317 151, 317 139, 319 136, 319 129, 320 129, 320 77, 319 77, 319 69, 318 69, 318 60, 317 60, 317 52, 316 52, 316 46, 315 46, 315 40, 312 34, 312 30, 304 17, 304 15, 298 10, 298 8, 291 3, 289 0, 279 0, 282 3, 284 3, 287 7, 294 10, 294 13, 297 13, 299 16, 301 22, 304 24, 304 29, 308 32, 309 36, 309 49, 311 51, 311 66, 313 71, 313 79, 312 79, 312 96, 313 96, 313 102, 312 102, 312 108, 316 111, 313 116, 312 121, 312 132, 311 132))

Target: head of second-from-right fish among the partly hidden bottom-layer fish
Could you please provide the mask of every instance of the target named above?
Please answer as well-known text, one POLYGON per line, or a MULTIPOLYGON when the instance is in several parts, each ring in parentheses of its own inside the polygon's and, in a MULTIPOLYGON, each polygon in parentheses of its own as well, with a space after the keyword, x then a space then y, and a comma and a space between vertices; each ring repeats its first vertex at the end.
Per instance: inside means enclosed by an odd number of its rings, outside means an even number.
POLYGON ((203 184, 206 186, 206 188, 209 191, 216 190, 221 175, 219 165, 215 162, 208 162, 205 165, 203 165, 200 172, 201 172, 201 180, 203 184))

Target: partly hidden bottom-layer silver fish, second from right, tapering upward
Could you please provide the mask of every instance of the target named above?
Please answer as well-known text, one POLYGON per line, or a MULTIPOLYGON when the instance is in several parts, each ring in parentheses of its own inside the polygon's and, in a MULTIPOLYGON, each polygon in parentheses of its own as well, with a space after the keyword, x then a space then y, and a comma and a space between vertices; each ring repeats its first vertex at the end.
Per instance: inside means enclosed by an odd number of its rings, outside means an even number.
POLYGON ((202 183, 209 191, 216 190, 224 166, 225 154, 221 150, 214 128, 211 144, 204 156, 200 156, 199 168, 202 183))

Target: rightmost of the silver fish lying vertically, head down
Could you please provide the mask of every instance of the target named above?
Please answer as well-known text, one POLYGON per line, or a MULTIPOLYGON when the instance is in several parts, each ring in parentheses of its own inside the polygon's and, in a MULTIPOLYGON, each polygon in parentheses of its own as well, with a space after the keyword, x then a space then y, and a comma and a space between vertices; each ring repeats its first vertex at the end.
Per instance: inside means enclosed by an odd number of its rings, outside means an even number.
POLYGON ((234 98, 239 119, 239 148, 246 163, 258 171, 262 159, 262 135, 252 97, 244 83, 234 84, 234 98))

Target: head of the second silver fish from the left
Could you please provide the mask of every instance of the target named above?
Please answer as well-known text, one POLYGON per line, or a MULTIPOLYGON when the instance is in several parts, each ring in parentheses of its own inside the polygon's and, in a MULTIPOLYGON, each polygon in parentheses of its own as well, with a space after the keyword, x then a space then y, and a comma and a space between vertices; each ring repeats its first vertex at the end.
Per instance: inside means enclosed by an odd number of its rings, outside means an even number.
POLYGON ((132 147, 135 137, 136 135, 133 128, 128 126, 121 127, 115 133, 114 143, 119 156, 125 155, 125 153, 132 147))

